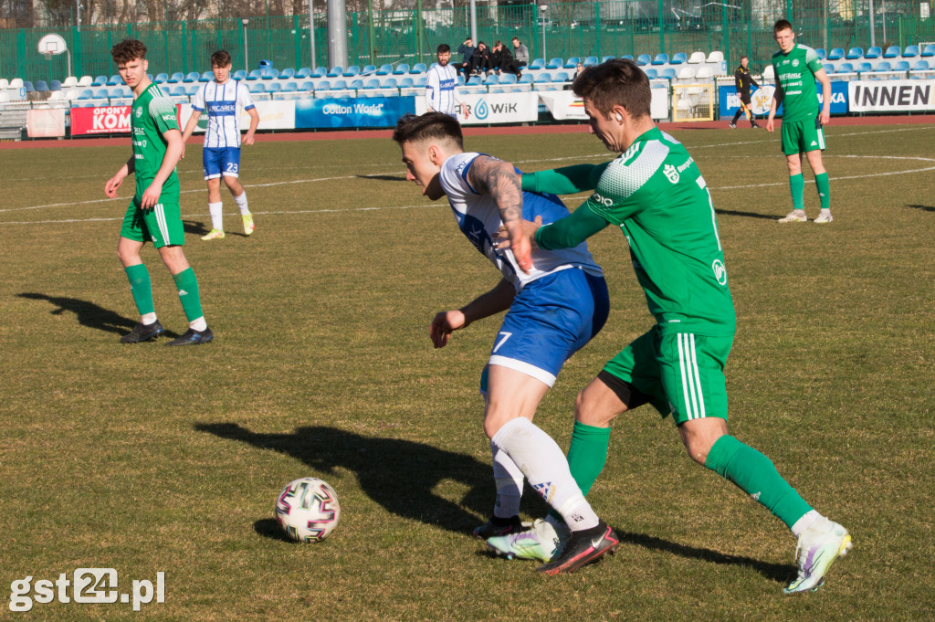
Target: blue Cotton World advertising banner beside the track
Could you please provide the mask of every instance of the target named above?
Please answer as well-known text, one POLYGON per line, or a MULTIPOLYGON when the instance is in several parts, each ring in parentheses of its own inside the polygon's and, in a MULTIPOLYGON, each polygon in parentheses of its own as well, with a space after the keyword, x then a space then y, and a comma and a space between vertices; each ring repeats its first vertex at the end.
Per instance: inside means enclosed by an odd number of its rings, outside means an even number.
POLYGON ((395 127, 399 117, 415 111, 414 99, 413 97, 301 99, 293 102, 295 104, 295 127, 395 127))

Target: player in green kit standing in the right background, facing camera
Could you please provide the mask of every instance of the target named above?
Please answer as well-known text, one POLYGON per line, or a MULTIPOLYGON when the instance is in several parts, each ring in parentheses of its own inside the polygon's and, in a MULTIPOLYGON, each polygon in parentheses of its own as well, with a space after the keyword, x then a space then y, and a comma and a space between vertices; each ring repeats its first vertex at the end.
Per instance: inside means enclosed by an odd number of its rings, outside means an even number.
POLYGON ((789 168, 789 190, 792 192, 792 211, 779 220, 780 223, 805 223, 805 202, 802 198, 805 181, 802 179, 802 153, 809 161, 815 176, 821 212, 814 220, 816 224, 830 223, 831 193, 827 171, 821 161, 825 151, 823 125, 831 121, 831 80, 818 54, 808 46, 796 43, 792 24, 786 20, 772 27, 779 51, 772 55, 772 66, 776 71, 776 92, 770 103, 770 118, 766 129, 775 129, 773 119, 776 109, 783 105, 783 153, 789 168), (821 82, 823 103, 818 113, 818 91, 815 80, 821 82))

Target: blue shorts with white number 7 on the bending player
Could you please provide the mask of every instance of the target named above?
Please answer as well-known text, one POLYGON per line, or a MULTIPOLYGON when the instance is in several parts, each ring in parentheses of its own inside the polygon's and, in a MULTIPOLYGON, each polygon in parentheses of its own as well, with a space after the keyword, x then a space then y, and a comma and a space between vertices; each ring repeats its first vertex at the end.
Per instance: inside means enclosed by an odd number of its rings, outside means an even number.
MULTIPOLYGON (((611 300, 603 277, 579 268, 529 283, 513 299, 487 365, 522 371, 552 386, 565 361, 607 321, 611 300)), ((487 390, 487 370, 481 392, 487 390)))

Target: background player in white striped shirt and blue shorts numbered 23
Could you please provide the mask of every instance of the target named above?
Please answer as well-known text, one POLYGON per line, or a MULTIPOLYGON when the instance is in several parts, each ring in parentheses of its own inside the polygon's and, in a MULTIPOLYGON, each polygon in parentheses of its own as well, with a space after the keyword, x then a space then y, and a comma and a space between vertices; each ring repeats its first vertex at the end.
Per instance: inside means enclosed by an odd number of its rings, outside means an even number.
POLYGON ((205 180, 208 181, 208 210, 211 214, 211 230, 202 239, 223 239, 223 203, 221 201, 221 179, 234 196, 243 220, 243 232, 253 233, 253 215, 247 206, 247 193, 239 181, 240 173, 240 108, 250 115, 250 129, 243 137, 243 144, 252 145, 260 115, 246 85, 231 80, 231 55, 226 50, 211 54, 211 71, 214 80, 198 89, 192 103, 192 116, 182 134, 181 157, 185 157, 185 142, 192 136, 201 113, 208 110, 208 130, 205 133, 205 149, 202 162, 205 180))

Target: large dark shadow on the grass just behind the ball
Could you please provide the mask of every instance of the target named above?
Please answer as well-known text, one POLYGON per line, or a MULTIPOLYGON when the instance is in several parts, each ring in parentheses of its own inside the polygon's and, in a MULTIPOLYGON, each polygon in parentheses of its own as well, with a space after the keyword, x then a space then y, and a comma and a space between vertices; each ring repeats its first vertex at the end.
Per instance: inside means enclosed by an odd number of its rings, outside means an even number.
MULTIPOLYGON (((458 533, 477 527, 494 500, 489 464, 420 442, 361 436, 335 427, 299 427, 292 434, 262 434, 237 424, 194 428, 293 456, 325 478, 336 467, 352 470, 367 496, 387 511, 458 533), (445 481, 468 491, 458 502, 443 499, 434 490, 445 481)), ((261 535, 272 530, 264 521, 254 529, 261 535)))

